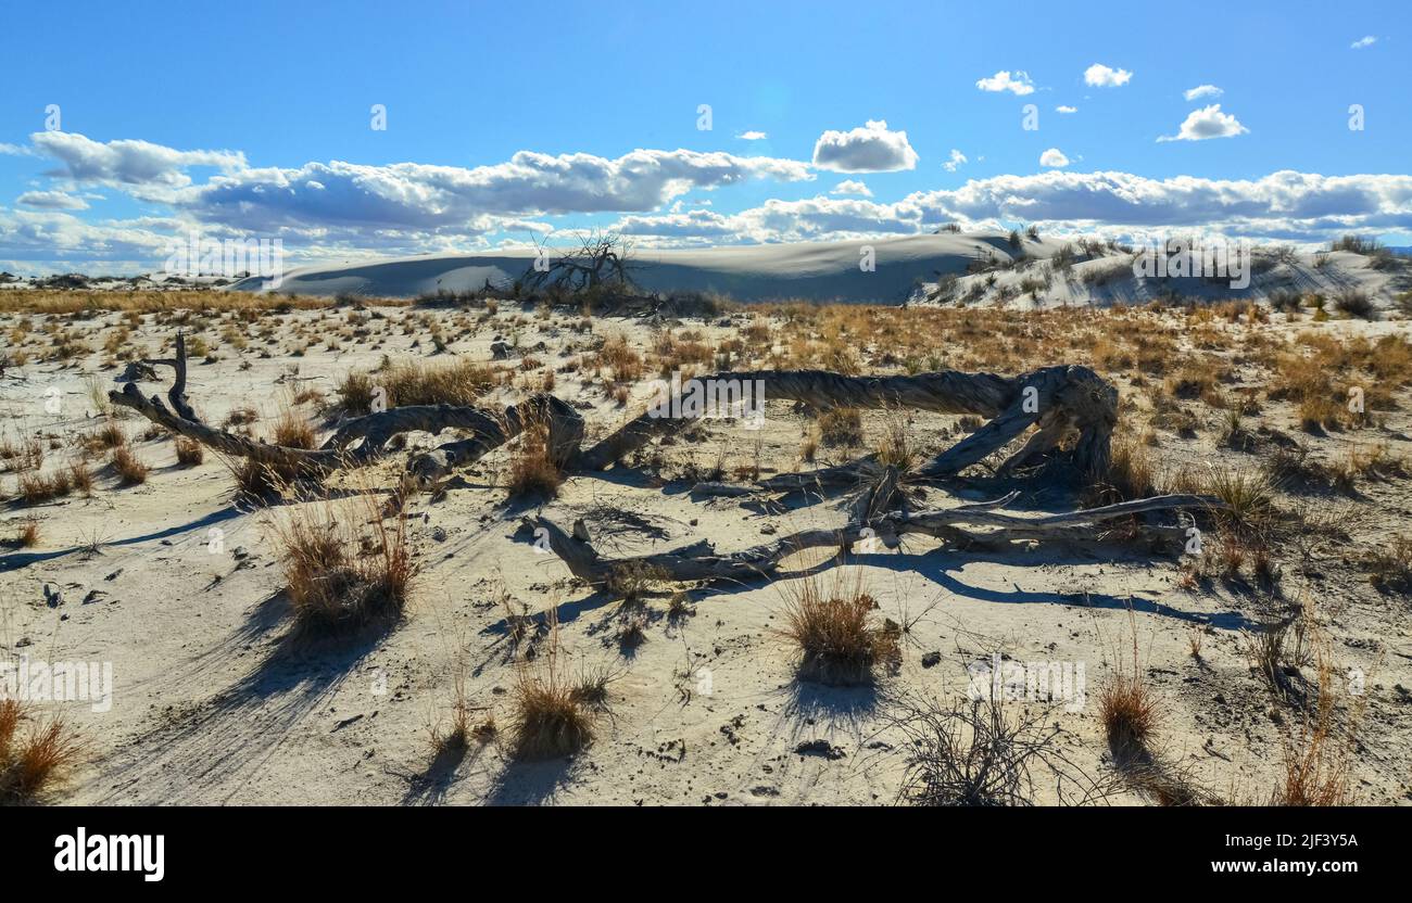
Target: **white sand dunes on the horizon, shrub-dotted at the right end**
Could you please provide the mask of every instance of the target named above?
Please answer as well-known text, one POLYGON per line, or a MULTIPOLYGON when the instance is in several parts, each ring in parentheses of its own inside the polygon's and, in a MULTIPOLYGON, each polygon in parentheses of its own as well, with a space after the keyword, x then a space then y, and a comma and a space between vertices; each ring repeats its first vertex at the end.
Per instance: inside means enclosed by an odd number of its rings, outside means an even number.
MULTIPOLYGON (((1200 278, 1142 278, 1134 275, 1132 254, 1104 247, 1076 251, 1075 262, 1059 268, 1062 248, 1076 250, 1072 237, 1025 237, 1018 248, 1008 233, 946 233, 873 241, 733 246, 696 250, 635 250, 633 278, 652 292, 710 292, 743 302, 792 301, 901 303, 932 295, 938 284, 956 277, 939 303, 1060 306, 1145 303, 1155 299, 1264 298, 1278 289, 1317 292, 1337 298, 1344 291, 1367 293, 1377 308, 1412 288, 1408 264, 1375 269, 1361 254, 1337 251, 1319 260, 1312 253, 1276 254, 1257 248, 1248 285, 1200 278), (863 265, 873 253, 873 268, 863 265), (977 261, 998 268, 970 272, 977 261)), ((302 267, 288 271, 275 289, 268 279, 234 284, 237 291, 278 291, 292 295, 337 293, 414 298, 438 291, 480 289, 487 282, 504 288, 524 275, 534 257, 528 251, 397 258, 371 264, 302 267)))

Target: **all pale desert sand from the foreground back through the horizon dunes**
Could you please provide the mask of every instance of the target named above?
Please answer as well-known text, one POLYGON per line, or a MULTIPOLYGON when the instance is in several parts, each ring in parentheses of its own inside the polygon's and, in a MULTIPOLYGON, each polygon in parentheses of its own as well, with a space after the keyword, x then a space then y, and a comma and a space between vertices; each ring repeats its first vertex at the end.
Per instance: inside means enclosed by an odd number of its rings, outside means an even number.
MULTIPOLYGON (((513 301, 383 301, 477 289, 487 275, 522 269, 522 261, 504 257, 301 269, 281 289, 304 296, 289 308, 270 306, 261 295, 217 292, 189 293, 209 299, 196 312, 181 310, 184 303, 104 309, 123 305, 103 301, 76 313, 52 312, 64 309, 62 293, 45 295, 48 313, 45 305, 7 302, 0 333, 11 357, 0 380, 0 440, 17 449, 37 442, 44 460, 35 473, 52 474, 83 459, 80 437, 112 423, 151 468, 143 483, 123 485, 106 463, 109 453, 89 452, 90 492, 32 504, 20 498, 25 470, 18 459, 7 459, 8 473, 0 475, 0 535, 8 539, 30 522, 38 528, 35 545, 0 552, 4 655, 113 667, 109 711, 55 704, 88 751, 49 799, 890 804, 902 792, 908 753, 907 737, 892 724, 898 703, 963 698, 974 673, 969 666, 1010 660, 1083 666, 1086 696, 1076 704, 1012 705, 1039 711, 1063 729, 1056 748, 1107 789, 1104 801, 1148 804, 1161 801, 1161 789, 1154 790, 1161 782, 1120 768, 1099 705, 1101 687, 1131 665, 1135 648, 1137 669, 1159 700, 1149 748, 1162 780, 1197 787, 1202 799, 1265 801, 1285 780, 1289 751, 1300 748, 1312 710, 1282 696, 1252 665, 1251 649, 1271 622, 1295 618, 1305 648, 1282 660, 1291 669, 1285 681, 1312 698, 1319 663, 1327 663, 1332 683, 1320 691, 1337 698, 1330 732, 1334 739, 1357 735, 1347 759, 1350 797, 1412 800, 1412 611, 1405 590, 1375 586, 1382 566, 1371 563, 1412 531, 1404 463, 1412 453, 1412 372, 1404 363, 1382 372, 1360 370, 1378 354, 1389 361, 1392 353, 1406 354, 1409 322, 1396 308, 1408 288, 1405 265, 1374 269, 1343 253, 1322 267, 1291 258, 1261 274, 1234 305, 1197 308, 1114 306, 1145 303, 1159 291, 1131 278, 1084 284, 1083 268, 1101 261, 1077 264, 1077 278, 1056 281, 1034 303, 998 295, 1025 278, 1018 271, 1003 271, 969 305, 929 298, 938 291, 936 272, 963 274, 979 246, 1003 253, 1003 244, 1000 236, 881 241, 877 274, 856 272, 856 246, 642 257, 645 288, 669 282, 748 301, 899 301, 916 282, 929 284, 907 309, 791 313, 761 306, 633 319, 513 301), (902 260, 909 265, 897 265, 902 260), (844 275, 849 268, 854 275, 844 275), (781 272, 792 275, 781 279, 781 272), (1291 315, 1265 301, 1243 301, 1278 286, 1303 292, 1302 309, 1291 315), (1374 299, 1371 319, 1337 312, 1333 299, 1348 289, 1374 299), (335 293, 363 298, 329 306, 326 296, 335 293), (1315 295, 1330 299, 1332 316, 1309 303, 1315 295), (1332 475, 1317 485, 1308 474, 1313 483, 1271 478, 1272 504, 1286 523, 1269 549, 1272 580, 1257 574, 1251 559, 1234 567, 1217 560, 1214 540, 1206 559, 1118 540, 1097 552, 1046 543, 977 550, 916 538, 895 550, 854 549, 822 580, 860 580, 877 602, 875 618, 905 631, 897 667, 853 687, 799 677, 798 649, 782 635, 798 578, 654 584, 641 598, 624 600, 573 580, 521 526, 534 514, 562 525, 582 519, 599 550, 613 556, 702 539, 744 549, 808 526, 840 526, 849 499, 761 504, 755 497, 702 497, 690 491, 693 484, 748 484, 844 463, 898 429, 931 452, 976 426, 947 415, 866 411, 860 443, 819 442, 806 461, 803 446, 816 437, 819 412, 771 401, 760 430, 707 420, 654 444, 631 466, 570 475, 555 498, 513 497, 510 453, 491 453, 443 494, 409 499, 417 576, 402 617, 370 635, 306 642, 282 593, 273 529, 301 505, 237 499, 219 456, 181 466, 165 430, 104 404, 107 389, 121 388, 114 381, 120 361, 168 356, 178 332, 206 346, 193 356, 188 385, 205 420, 237 423, 232 429, 261 439, 292 409, 322 440, 339 422, 337 389, 346 377, 376 372, 384 358, 484 365, 501 375, 477 404, 546 389, 575 404, 589 435, 602 436, 650 401, 647 381, 681 360, 682 343, 699 343, 707 350, 690 365, 702 372, 837 368, 839 356, 861 372, 1090 364, 1120 391, 1121 442, 1149 459, 1162 480, 1202 484, 1228 471, 1264 481, 1274 473, 1271 460, 1291 449, 1332 475), (675 339, 676 351, 662 350, 664 334, 675 339), (497 339, 514 346, 508 357, 493 354, 497 339), (1145 344, 1155 339, 1161 343, 1145 344), (614 343, 645 358, 635 378, 620 380, 603 363, 604 344, 614 343), (1289 371, 1275 361, 1323 347, 1315 343, 1378 349, 1357 358, 1364 363, 1327 374, 1340 411, 1348 374, 1372 381, 1370 416, 1302 426, 1299 404, 1279 391, 1289 371), (61 354, 55 349, 62 344, 72 347, 61 354), (59 404, 47 406, 54 399, 59 404), (1233 409, 1244 411, 1234 426, 1233 409), (544 635, 551 611, 556 638, 544 635), (522 624, 532 626, 517 642, 522 624), (583 751, 521 762, 507 738, 517 674, 541 667, 549 642, 558 643, 554 657, 566 673, 606 679, 604 697, 592 707, 593 741, 583 751), (535 643, 541 652, 527 652, 535 643), (477 734, 460 753, 439 752, 433 738, 445 734, 457 704, 474 724, 496 729, 477 734)), ((1042 260, 1059 248, 1048 238, 1034 246, 1031 254, 1042 260)), ((966 298, 970 284, 984 278, 960 275, 952 298, 966 298)), ((161 394, 168 381, 169 371, 161 370, 140 387, 161 394)), ((1340 416, 1336 411, 1330 419, 1340 416)), ((409 444, 435 440, 414 435, 409 444)), ((330 487, 381 491, 395 485, 400 467, 394 456, 330 487)), ((922 508, 1000 494, 984 473, 973 477, 909 491, 922 508)), ((1025 485, 1012 511, 1038 515, 1075 504, 1058 487, 1025 485)), ((805 566, 827 554, 799 557, 805 566)), ((1036 766, 1032 777, 1032 801, 1060 801, 1046 769, 1036 766)))

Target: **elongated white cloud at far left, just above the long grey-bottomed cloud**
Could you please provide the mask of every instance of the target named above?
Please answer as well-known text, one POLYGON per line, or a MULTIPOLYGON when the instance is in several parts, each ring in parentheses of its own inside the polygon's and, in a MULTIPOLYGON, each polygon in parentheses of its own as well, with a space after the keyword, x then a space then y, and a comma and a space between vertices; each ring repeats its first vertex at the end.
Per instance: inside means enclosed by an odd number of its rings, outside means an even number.
POLYGON ((48 175, 75 182, 97 182, 133 189, 171 190, 191 185, 186 169, 216 166, 244 168, 246 155, 236 151, 178 151, 138 140, 93 141, 73 131, 37 131, 30 135, 35 152, 64 164, 48 175))

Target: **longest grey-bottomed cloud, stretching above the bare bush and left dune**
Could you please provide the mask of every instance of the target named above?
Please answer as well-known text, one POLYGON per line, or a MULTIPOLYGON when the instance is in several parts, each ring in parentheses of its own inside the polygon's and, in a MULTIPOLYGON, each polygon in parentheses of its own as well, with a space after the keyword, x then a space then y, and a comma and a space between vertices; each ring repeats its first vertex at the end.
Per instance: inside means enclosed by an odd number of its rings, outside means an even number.
POLYGON ((178 207, 250 230, 299 226, 484 233, 497 217, 655 210, 692 189, 753 178, 809 181, 808 164, 724 152, 644 151, 616 159, 521 151, 466 169, 426 164, 311 162, 244 169, 185 192, 178 207))

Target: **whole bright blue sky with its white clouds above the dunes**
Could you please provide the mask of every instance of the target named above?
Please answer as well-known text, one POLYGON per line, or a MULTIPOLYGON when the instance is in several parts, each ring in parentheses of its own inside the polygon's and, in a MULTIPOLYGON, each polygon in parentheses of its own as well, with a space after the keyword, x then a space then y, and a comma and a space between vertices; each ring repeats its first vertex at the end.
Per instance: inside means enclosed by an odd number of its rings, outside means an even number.
POLYGON ((191 229, 282 237, 297 258, 945 222, 1409 244, 1409 20, 1405 3, 30 3, 7 10, 27 38, 0 59, 0 267, 150 269, 191 229))

